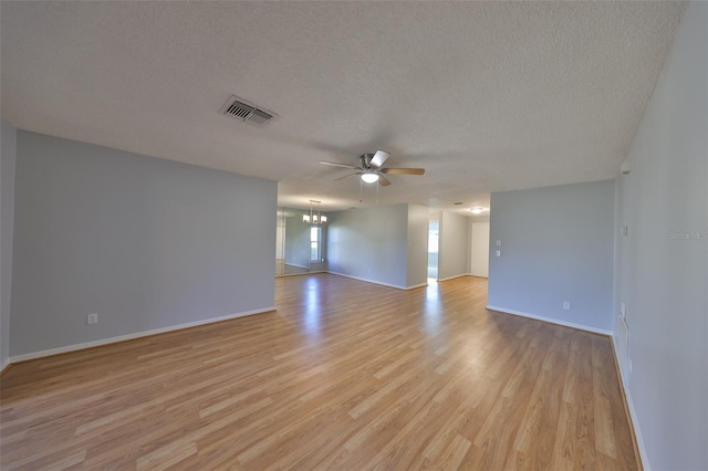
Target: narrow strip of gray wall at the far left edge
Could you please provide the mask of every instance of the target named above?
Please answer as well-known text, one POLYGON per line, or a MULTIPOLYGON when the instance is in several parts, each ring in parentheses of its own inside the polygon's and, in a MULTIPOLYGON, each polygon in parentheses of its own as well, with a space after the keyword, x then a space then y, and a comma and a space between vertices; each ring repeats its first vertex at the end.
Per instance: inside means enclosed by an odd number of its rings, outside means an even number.
POLYGON ((4 121, 0 130, 0 369, 10 363, 10 294, 17 129, 4 121))

